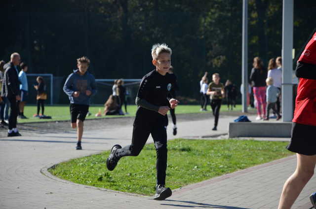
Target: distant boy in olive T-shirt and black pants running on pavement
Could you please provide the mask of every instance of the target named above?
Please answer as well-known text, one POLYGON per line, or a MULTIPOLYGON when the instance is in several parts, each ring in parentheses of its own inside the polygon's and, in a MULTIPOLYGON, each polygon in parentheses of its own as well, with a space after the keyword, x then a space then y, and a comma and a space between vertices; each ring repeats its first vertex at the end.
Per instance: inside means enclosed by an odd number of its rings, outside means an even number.
POLYGON ((218 124, 219 110, 221 108, 222 98, 224 98, 225 94, 224 94, 224 85, 219 82, 220 77, 218 73, 214 73, 212 75, 212 80, 213 82, 211 82, 208 85, 206 94, 210 95, 211 108, 213 111, 213 115, 215 117, 214 127, 212 130, 216 131, 217 124, 218 124))

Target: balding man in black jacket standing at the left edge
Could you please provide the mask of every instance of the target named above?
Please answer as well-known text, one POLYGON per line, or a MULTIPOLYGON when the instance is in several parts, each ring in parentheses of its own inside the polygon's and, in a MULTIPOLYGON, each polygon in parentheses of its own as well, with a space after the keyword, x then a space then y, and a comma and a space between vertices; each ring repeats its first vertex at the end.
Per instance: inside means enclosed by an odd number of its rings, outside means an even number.
POLYGON ((13 53, 10 56, 10 63, 4 71, 1 97, 6 97, 10 102, 10 116, 8 125, 8 137, 21 136, 16 122, 18 116, 17 101, 20 101, 20 81, 17 66, 20 64, 21 58, 18 53, 13 53))

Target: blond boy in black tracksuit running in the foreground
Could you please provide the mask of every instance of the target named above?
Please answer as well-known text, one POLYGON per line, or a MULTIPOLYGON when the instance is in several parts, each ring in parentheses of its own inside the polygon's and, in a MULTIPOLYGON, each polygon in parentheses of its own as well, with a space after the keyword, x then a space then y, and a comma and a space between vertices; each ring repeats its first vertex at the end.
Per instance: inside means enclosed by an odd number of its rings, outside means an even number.
POLYGON ((176 99, 169 98, 175 80, 168 72, 171 65, 171 49, 166 44, 155 44, 152 48, 153 65, 156 69, 146 74, 137 92, 136 112, 132 143, 121 147, 112 147, 107 159, 107 168, 113 171, 118 160, 125 156, 137 156, 152 134, 157 151, 157 185, 154 200, 164 200, 171 196, 171 189, 165 187, 167 168, 167 112, 178 105, 176 99))

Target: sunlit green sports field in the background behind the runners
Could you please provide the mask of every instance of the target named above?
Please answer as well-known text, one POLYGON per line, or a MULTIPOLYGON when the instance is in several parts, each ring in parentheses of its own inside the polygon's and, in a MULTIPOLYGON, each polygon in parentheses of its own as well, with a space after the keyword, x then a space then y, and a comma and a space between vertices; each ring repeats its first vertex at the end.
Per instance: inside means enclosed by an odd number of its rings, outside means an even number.
MULTIPOLYGON (((207 107, 210 108, 209 106, 207 107)), ((110 118, 110 117, 128 117, 128 116, 135 116, 136 114, 136 105, 128 105, 127 110, 129 115, 109 115, 109 116, 102 116, 96 117, 95 114, 101 109, 101 113, 103 113, 104 106, 90 106, 89 111, 92 113, 91 116, 86 117, 86 119, 95 119, 95 118, 110 118)), ((123 108, 124 109, 124 108, 123 108)), ((199 105, 179 105, 176 107, 176 114, 184 114, 184 113, 209 113, 207 112, 200 112, 199 105)), ((235 111, 241 111, 241 105, 236 105, 235 111)), ((228 111, 226 106, 223 106, 221 111, 228 111)), ((33 118, 33 115, 37 112, 37 106, 35 105, 26 105, 24 108, 24 115, 29 119, 18 119, 19 123, 29 123, 29 122, 42 122, 42 121, 61 121, 61 120, 70 120, 70 113, 69 113, 69 105, 46 105, 45 106, 45 115, 52 116, 52 119, 39 119, 33 118)))

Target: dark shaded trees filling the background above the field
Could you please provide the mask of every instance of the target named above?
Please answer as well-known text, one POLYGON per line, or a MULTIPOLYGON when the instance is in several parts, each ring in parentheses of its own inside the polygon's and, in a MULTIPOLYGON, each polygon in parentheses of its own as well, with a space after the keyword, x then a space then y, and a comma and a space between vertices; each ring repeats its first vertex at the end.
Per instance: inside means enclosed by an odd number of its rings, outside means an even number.
MULTIPOLYGON (((294 0, 299 53, 316 27, 316 1, 294 0)), ((282 0, 249 0, 249 70, 281 55, 282 0)), ((151 46, 167 43, 181 91, 197 97, 205 71, 241 83, 242 0, 5 0, 0 59, 19 52, 30 73, 67 76, 86 55, 96 78, 141 78, 151 46)), ((294 65, 295 66, 295 65, 294 65)))

